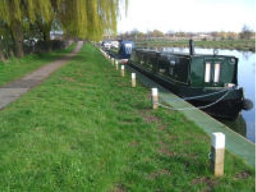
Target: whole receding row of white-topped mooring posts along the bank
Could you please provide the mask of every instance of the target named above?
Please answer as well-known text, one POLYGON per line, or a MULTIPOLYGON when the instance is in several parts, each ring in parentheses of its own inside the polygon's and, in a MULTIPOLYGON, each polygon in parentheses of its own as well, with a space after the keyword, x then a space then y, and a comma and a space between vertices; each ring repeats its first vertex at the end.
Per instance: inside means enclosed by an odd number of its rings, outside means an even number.
MULTIPOLYGON (((100 52, 107 58, 111 60, 112 65, 116 65, 116 70, 118 70, 118 60, 111 58, 106 52, 100 49, 100 52)), ((125 76, 125 67, 121 65, 121 75, 125 76)), ((131 74, 132 87, 136 86, 136 74, 131 74)), ((159 94, 157 88, 152 88, 152 108, 157 109, 159 105, 159 94)), ((209 154, 210 166, 212 173, 215 176, 222 176, 224 173, 224 157, 225 157, 225 134, 222 132, 212 133, 212 145, 211 152, 209 154)))

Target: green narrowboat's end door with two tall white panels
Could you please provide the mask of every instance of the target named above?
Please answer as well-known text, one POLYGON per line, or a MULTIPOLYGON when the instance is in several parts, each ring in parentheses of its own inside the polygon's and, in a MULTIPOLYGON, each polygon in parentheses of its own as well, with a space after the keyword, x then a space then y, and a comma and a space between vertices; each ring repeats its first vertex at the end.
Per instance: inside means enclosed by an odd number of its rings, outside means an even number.
POLYGON ((221 66, 223 60, 220 58, 207 58, 204 62, 204 83, 207 86, 220 86, 221 66))

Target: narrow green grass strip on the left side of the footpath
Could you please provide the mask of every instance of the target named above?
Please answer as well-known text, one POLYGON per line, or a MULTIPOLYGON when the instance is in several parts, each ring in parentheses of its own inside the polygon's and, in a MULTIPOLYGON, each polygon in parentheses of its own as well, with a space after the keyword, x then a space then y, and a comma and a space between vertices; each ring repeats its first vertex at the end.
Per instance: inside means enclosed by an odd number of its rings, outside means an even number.
POLYGON ((63 54, 71 52, 76 45, 72 44, 67 49, 52 51, 51 53, 28 54, 24 58, 11 58, 8 61, 0 61, 0 86, 4 83, 18 79, 36 68, 57 60, 63 54))

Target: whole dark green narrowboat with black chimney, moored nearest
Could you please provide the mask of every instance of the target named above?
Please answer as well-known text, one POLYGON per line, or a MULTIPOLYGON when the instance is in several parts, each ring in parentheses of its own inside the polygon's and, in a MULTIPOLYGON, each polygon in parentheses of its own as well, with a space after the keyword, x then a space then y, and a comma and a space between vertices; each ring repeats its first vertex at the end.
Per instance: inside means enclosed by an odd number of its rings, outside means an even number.
POLYGON ((234 119, 252 108, 237 85, 236 57, 195 54, 193 41, 189 46, 188 54, 134 49, 128 65, 211 116, 234 119))

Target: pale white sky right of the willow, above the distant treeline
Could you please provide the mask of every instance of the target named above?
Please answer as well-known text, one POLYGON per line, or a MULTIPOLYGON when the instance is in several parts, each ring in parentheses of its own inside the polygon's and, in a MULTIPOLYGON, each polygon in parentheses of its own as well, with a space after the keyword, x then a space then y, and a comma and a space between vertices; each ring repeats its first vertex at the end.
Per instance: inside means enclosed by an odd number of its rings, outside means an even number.
POLYGON ((173 31, 241 31, 244 24, 255 31, 255 0, 129 0, 118 32, 138 29, 173 31))

